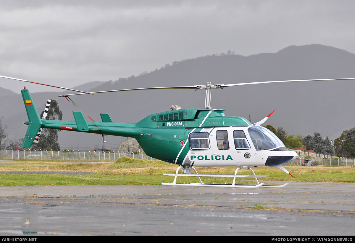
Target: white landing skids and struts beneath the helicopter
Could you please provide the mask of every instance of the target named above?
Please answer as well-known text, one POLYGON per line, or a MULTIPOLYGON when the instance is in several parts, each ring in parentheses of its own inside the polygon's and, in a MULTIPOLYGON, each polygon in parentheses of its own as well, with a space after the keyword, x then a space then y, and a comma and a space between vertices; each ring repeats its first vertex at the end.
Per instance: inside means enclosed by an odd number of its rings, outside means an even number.
POLYGON ((278 185, 264 185, 264 183, 259 183, 257 177, 267 177, 269 175, 255 175, 254 171, 249 166, 245 167, 245 168, 238 167, 235 170, 234 175, 230 175, 230 174, 198 174, 195 168, 193 168, 193 167, 184 168, 183 166, 178 167, 178 169, 176 169, 175 174, 163 173, 163 175, 175 176, 173 183, 164 183, 164 182, 161 183, 164 186, 208 186, 208 187, 241 187, 241 188, 258 188, 258 187, 273 187, 273 188, 275 188, 275 187, 277 187, 277 188, 281 188, 281 187, 288 185, 288 183, 285 183, 285 184, 279 185, 279 186, 278 185), (186 174, 178 174, 180 169, 182 169, 182 171, 186 174), (195 171, 195 174, 191 173, 192 172, 191 169, 193 169, 193 171, 195 171), (253 174, 252 175, 237 175, 237 172, 240 169, 251 170, 251 172, 253 174), (200 183, 189 183, 189 184, 176 183, 176 178, 178 178, 178 176, 197 176, 200 183), (232 184, 204 184, 200 178, 203 176, 205 176, 205 177, 233 177, 233 183, 232 184), (253 177, 256 180, 256 185, 235 184, 236 177, 253 177))

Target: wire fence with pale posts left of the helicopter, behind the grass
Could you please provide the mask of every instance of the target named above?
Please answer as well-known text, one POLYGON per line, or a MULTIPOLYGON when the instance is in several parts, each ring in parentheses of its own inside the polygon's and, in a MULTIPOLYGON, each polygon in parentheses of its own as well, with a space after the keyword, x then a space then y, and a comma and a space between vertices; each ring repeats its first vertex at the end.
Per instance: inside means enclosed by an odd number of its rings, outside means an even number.
POLYGON ((116 161, 116 159, 126 156, 135 159, 156 160, 146 154, 130 154, 128 152, 106 152, 99 151, 42 151, 42 150, 24 150, 11 149, 0 150, 0 160, 60 160, 60 161, 85 161, 85 160, 102 160, 102 161, 116 161))

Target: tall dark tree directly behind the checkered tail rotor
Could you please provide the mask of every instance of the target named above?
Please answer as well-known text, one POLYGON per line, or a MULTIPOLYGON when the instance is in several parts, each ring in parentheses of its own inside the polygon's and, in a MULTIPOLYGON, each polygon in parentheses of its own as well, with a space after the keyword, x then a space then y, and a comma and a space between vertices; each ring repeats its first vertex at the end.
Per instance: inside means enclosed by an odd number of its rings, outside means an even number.
MULTIPOLYGON (((44 111, 42 111, 40 117, 43 116, 44 111)), ((59 109, 58 103, 55 100, 50 100, 50 107, 48 110, 47 117, 45 120, 62 120, 62 112, 59 109)), ((45 150, 45 149, 52 149, 52 150, 59 150, 60 146, 58 143, 58 130, 55 129, 42 129, 42 134, 39 138, 39 142, 35 148, 45 150)))

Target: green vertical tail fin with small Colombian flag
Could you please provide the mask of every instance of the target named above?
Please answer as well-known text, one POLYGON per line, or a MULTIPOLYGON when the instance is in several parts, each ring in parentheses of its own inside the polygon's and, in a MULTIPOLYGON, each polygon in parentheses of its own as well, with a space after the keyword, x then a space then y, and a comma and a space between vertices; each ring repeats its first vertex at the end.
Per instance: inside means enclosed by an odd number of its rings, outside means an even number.
POLYGON ((39 118, 38 112, 32 102, 32 98, 29 94, 28 89, 24 88, 23 90, 21 90, 21 94, 29 121, 27 132, 23 139, 22 147, 29 148, 31 147, 34 139, 36 139, 35 137, 37 135, 37 132, 41 128, 42 121, 39 118))

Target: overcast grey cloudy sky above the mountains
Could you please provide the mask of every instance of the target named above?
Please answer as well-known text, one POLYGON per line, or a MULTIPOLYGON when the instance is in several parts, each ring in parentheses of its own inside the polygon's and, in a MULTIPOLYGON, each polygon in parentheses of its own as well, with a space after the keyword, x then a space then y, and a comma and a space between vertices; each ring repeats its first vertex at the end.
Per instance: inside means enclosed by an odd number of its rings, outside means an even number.
MULTIPOLYGON (((355 53, 354 10, 353 0, 2 0, 0 75, 72 88, 229 50, 316 43, 355 53)), ((0 78, 16 93, 25 85, 58 91, 0 78)))

